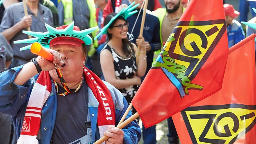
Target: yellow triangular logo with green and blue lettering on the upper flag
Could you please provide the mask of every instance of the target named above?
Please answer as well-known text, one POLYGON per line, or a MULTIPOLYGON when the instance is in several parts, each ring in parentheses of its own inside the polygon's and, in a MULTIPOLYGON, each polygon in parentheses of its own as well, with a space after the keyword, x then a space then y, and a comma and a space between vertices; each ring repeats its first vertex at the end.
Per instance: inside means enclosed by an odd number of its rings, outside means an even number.
POLYGON ((203 86, 193 84, 192 80, 225 30, 223 19, 178 22, 152 68, 162 69, 181 98, 189 95, 189 89, 203 90, 203 86))

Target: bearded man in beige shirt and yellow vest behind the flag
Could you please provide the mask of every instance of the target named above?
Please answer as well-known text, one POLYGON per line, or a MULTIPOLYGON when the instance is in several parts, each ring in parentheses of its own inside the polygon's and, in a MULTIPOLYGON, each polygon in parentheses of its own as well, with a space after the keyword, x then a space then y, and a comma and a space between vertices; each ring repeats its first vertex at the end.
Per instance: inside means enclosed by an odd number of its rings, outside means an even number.
MULTIPOLYGON (((160 39, 163 45, 165 44, 165 41, 167 41, 173 28, 185 10, 185 8, 181 6, 181 0, 164 0, 164 4, 165 8, 159 8, 156 11, 153 11, 160 21, 160 39)), ((155 51, 153 63, 155 62, 155 59, 159 55, 160 51, 161 49, 155 51)), ((169 129, 169 133, 167 134, 168 142, 169 144, 178 144, 179 137, 173 124, 172 117, 169 117, 167 121, 169 129)))

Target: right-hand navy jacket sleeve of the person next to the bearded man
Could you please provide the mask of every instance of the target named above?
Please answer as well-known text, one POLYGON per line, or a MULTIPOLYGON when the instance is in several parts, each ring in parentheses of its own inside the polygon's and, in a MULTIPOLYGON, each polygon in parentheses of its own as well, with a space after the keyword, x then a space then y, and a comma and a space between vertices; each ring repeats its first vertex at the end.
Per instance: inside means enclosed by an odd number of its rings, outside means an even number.
POLYGON ((151 45, 151 51, 155 52, 161 48, 161 40, 160 40, 160 22, 156 17, 154 31, 153 31, 153 39, 151 45))

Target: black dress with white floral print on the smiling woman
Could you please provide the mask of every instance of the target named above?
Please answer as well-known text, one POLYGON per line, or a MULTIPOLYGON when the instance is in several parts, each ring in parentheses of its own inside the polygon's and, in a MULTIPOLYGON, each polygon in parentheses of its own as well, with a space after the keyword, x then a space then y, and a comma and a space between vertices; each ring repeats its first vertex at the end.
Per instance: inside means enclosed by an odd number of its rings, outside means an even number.
MULTIPOLYGON (((108 44, 104 49, 108 49, 113 56, 114 59, 114 67, 116 79, 130 79, 136 73, 137 65, 136 65, 136 57, 134 54, 131 54, 127 57, 123 57, 118 55, 115 49, 108 44)), ((131 50, 132 51, 132 50, 131 50)), ((132 98, 136 94, 139 89, 139 85, 131 85, 127 88, 118 89, 121 93, 123 93, 125 99, 128 104, 131 103, 132 98)), ((135 109, 132 109, 132 113, 135 113, 135 109)))

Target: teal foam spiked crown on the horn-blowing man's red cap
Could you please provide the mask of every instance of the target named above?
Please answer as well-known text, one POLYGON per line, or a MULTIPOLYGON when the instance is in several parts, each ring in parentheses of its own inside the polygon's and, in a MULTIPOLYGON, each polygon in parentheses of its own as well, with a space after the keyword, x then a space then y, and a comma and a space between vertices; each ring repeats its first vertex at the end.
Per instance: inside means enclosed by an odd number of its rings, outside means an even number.
MULTIPOLYGON (((31 31, 23 31, 23 33, 27 35, 34 36, 35 38, 32 39, 24 39, 24 40, 16 40, 13 43, 19 44, 19 43, 40 43, 43 47, 49 48, 49 43, 52 39, 56 37, 72 37, 77 38, 82 41, 86 45, 90 45, 92 43, 92 38, 88 35, 89 33, 95 31, 98 27, 88 28, 80 31, 78 27, 75 26, 74 29, 74 21, 72 21, 71 24, 67 25, 64 29, 60 29, 61 27, 57 27, 59 29, 53 28, 48 24, 45 24, 45 27, 47 29, 47 32, 31 32, 31 31)), ((20 48, 20 51, 30 49, 31 45, 27 45, 25 47, 20 48)))

